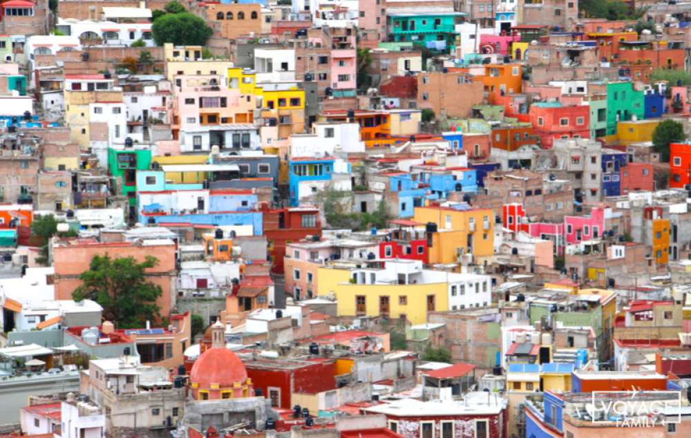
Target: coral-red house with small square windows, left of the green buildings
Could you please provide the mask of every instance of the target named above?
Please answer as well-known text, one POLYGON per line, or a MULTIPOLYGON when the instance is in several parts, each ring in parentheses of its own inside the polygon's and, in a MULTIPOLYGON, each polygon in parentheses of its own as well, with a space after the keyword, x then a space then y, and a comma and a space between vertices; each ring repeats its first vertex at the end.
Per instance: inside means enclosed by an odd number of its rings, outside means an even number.
POLYGON ((530 106, 530 121, 542 149, 552 149, 556 138, 590 138, 590 107, 537 102, 530 106))

